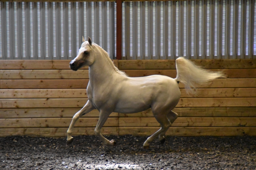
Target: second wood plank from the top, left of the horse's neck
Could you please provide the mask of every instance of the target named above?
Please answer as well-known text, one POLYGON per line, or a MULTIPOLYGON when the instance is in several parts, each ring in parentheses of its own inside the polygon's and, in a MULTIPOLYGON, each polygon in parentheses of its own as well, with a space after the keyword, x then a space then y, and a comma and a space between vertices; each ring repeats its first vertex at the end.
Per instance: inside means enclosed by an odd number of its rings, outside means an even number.
POLYGON ((88 79, 89 70, 0 70, 0 79, 88 79))

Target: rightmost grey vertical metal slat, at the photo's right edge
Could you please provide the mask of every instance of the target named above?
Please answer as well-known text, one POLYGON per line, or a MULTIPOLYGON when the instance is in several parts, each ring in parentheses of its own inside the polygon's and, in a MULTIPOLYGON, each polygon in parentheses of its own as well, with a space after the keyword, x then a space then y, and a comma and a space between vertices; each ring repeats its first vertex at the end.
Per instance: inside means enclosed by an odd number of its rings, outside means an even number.
POLYGON ((254 1, 250 1, 249 6, 249 56, 248 58, 254 58, 253 57, 253 41, 254 41, 254 1))

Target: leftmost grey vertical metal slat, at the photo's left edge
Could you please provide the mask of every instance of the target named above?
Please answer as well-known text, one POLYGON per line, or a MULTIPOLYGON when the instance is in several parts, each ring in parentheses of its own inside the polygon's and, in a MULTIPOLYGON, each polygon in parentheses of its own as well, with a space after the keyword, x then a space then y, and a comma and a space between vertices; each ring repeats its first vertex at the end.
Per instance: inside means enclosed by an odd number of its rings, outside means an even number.
POLYGON ((7 25, 6 25, 6 2, 1 2, 1 28, 2 28, 2 57, 7 59, 7 25))

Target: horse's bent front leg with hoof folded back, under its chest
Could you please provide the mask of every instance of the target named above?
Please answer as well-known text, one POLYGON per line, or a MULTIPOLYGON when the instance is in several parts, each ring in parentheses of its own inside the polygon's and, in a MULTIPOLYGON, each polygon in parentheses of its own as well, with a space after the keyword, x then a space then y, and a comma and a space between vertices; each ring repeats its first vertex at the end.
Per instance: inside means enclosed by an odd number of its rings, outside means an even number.
POLYGON ((109 141, 108 139, 106 139, 105 137, 103 137, 100 133, 100 129, 102 128, 102 126, 105 124, 105 122, 108 119, 108 116, 111 114, 111 112, 107 112, 107 111, 100 111, 100 117, 99 117, 99 121, 97 123, 97 126, 95 128, 95 134, 100 137, 100 140, 104 143, 104 144, 108 144, 108 145, 115 145, 116 142, 114 140, 109 141))

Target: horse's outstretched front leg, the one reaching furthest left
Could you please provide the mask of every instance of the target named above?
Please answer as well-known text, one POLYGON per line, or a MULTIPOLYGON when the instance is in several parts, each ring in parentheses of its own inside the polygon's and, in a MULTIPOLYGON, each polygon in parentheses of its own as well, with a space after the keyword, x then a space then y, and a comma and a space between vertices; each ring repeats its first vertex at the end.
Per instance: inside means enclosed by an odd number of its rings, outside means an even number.
POLYGON ((92 105, 92 103, 88 100, 87 103, 84 105, 84 107, 79 110, 72 118, 72 121, 69 125, 69 128, 68 128, 68 131, 67 131, 67 134, 68 134, 68 137, 67 137, 67 143, 70 144, 73 142, 73 137, 71 137, 71 134, 72 134, 72 130, 75 126, 75 123, 76 121, 82 116, 82 115, 85 115, 89 112, 91 112, 93 109, 95 109, 95 107, 92 105))

